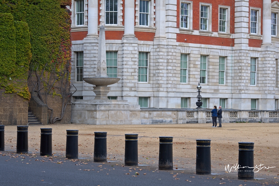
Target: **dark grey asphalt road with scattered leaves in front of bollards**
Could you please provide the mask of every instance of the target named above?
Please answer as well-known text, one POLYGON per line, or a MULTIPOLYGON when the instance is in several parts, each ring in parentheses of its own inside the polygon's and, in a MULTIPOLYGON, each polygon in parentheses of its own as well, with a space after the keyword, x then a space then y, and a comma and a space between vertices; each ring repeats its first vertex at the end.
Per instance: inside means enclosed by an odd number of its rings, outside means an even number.
POLYGON ((2 151, 0 185, 263 185, 256 180, 200 176, 186 174, 183 170, 161 171, 146 166, 122 167, 118 163, 94 163, 92 159, 69 160, 63 155, 43 157, 2 151))

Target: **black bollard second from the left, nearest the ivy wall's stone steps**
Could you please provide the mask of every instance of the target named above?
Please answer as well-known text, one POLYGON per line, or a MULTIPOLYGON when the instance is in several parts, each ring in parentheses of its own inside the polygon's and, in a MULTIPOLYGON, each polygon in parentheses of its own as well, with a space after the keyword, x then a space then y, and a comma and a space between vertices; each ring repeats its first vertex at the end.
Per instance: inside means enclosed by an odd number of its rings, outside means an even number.
POLYGON ((28 126, 17 126, 17 153, 28 153, 28 126))

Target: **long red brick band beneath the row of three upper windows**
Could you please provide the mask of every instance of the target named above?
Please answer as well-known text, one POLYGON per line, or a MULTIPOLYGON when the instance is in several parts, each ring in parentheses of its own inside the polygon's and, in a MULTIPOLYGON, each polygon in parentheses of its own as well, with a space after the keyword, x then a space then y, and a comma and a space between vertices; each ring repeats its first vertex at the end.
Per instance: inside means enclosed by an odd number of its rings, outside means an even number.
POLYGON ((176 42, 234 47, 234 39, 202 35, 176 34, 176 42))

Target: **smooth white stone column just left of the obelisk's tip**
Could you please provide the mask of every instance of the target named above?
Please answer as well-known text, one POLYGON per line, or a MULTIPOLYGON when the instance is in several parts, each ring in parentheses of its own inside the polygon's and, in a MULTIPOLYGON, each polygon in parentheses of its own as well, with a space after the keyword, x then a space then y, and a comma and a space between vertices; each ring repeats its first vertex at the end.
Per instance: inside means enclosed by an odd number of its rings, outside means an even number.
POLYGON ((88 0, 87 37, 98 37, 98 0, 88 0))

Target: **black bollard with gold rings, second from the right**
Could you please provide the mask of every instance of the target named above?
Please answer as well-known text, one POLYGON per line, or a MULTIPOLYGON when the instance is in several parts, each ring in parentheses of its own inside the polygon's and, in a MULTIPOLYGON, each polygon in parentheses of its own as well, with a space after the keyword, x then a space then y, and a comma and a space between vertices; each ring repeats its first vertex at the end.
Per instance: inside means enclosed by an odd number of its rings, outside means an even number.
POLYGON ((196 140, 196 174, 211 174, 210 141, 196 140))

